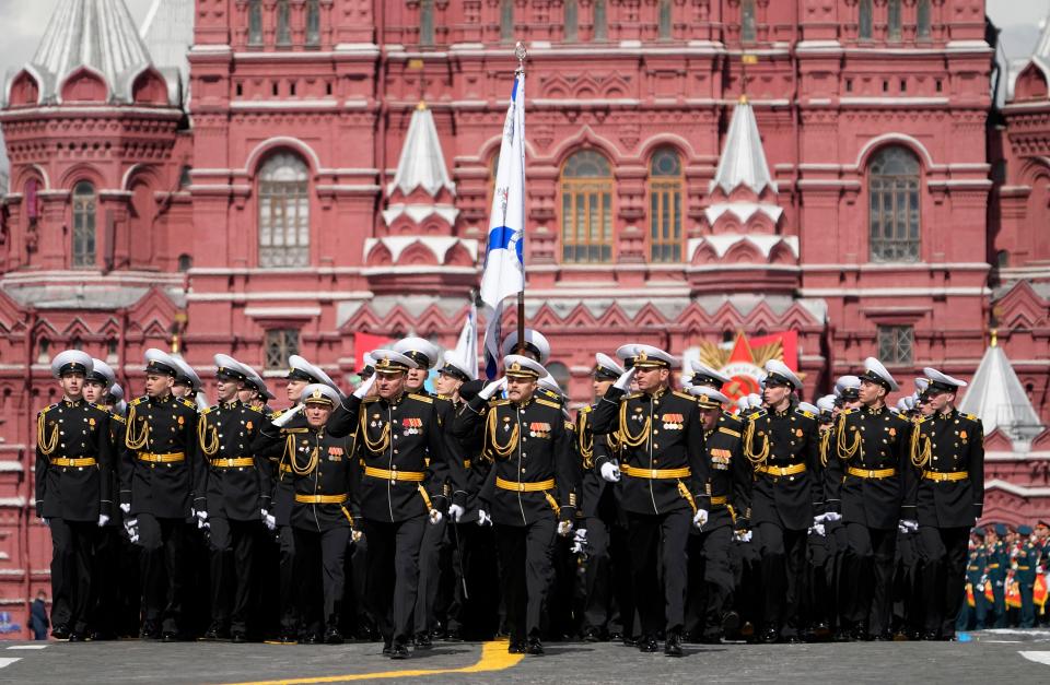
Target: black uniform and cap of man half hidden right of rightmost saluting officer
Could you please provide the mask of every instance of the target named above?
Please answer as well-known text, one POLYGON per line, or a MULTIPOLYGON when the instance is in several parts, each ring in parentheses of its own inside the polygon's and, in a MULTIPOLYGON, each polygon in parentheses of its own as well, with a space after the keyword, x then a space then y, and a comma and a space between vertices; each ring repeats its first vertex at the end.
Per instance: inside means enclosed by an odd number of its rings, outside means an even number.
MULTIPOLYGON (((707 388, 695 388, 691 393, 701 406, 721 406, 723 400, 728 401, 707 388)), ((695 639, 707 643, 721 641, 723 623, 730 628, 738 623, 738 617, 730 618, 725 610, 734 588, 730 568, 733 533, 750 529, 751 469, 744 457, 742 429, 738 418, 723 413, 714 428, 704 430, 711 510, 703 528, 689 536, 689 605, 695 622, 689 629, 695 639)))

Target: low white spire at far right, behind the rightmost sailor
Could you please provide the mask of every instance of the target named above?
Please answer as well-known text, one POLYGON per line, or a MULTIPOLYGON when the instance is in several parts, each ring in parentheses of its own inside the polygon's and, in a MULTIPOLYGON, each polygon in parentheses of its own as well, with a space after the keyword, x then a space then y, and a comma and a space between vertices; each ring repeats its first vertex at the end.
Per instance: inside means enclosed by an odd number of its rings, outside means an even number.
POLYGON ((959 411, 980 418, 985 435, 1000 428, 1013 440, 1030 440, 1042 432, 1039 414, 1006 353, 994 343, 984 352, 959 411))

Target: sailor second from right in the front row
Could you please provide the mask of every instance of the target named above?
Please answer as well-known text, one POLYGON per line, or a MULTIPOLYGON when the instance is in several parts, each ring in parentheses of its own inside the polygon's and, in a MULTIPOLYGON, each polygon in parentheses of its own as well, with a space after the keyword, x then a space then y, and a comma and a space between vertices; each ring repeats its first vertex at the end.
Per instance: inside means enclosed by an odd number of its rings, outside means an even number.
MULTIPOLYGON (((892 639, 894 562, 897 528, 913 517, 905 506, 910 484, 908 440, 911 424, 886 406, 897 381, 874 357, 864 362, 861 409, 843 410, 828 458, 828 508, 845 523, 850 556, 847 582, 852 589, 847 618, 856 639, 892 639)), ((910 528, 906 524, 906 528, 910 528)))

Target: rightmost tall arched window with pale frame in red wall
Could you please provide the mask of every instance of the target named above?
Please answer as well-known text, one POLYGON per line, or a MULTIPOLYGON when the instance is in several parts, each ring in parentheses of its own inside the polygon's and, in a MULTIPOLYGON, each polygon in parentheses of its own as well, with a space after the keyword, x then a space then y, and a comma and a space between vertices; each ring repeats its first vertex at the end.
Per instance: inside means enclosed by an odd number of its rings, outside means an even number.
POLYGON ((867 167, 871 259, 919 261, 920 164, 907 147, 879 151, 867 167))

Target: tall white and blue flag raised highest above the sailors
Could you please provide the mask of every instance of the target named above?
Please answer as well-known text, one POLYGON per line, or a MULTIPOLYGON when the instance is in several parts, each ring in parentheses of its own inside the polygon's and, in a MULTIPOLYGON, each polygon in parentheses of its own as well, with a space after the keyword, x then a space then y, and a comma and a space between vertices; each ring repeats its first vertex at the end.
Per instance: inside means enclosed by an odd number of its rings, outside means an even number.
POLYGON ((517 73, 503 123, 489 216, 481 302, 490 310, 525 290, 525 74, 517 73))

